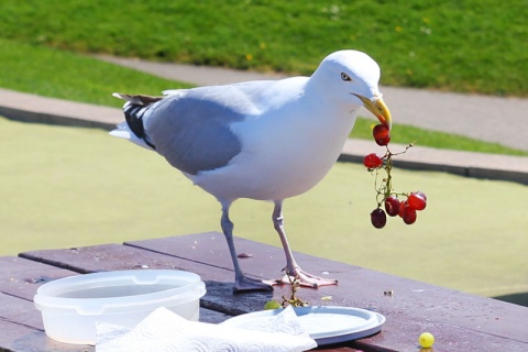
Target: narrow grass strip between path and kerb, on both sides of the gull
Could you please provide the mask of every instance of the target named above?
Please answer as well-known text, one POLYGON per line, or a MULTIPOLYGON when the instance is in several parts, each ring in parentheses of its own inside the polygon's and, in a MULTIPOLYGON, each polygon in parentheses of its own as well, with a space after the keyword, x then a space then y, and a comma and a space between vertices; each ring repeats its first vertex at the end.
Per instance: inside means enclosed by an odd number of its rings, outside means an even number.
MULTIPOLYGON (((121 107, 113 91, 158 95, 166 88, 188 87, 96 58, 0 40, 0 87, 97 105, 121 107), (38 57, 38 61, 34 61, 38 57), (21 69, 23 67, 23 69, 21 69), (45 67, 45 69, 42 69, 45 67)), ((352 138, 372 139, 373 118, 358 119, 352 138)), ((528 155, 528 152, 461 135, 394 125, 393 142, 407 144, 419 136, 418 145, 482 153, 528 155)))

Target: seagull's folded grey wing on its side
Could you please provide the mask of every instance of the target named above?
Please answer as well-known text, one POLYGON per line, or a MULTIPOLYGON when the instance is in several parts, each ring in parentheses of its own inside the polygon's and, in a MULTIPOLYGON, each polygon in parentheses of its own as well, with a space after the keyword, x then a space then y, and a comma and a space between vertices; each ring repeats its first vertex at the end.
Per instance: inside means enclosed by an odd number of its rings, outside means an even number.
POLYGON ((169 96, 152 107, 145 129, 156 151, 174 167, 196 175, 226 166, 241 152, 229 125, 245 116, 197 95, 169 96))

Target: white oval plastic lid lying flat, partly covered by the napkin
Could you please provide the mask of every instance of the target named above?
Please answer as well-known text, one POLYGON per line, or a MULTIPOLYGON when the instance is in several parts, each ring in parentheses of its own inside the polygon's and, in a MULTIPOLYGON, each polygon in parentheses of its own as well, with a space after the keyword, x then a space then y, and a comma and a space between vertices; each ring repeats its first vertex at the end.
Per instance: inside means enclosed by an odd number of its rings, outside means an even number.
MULTIPOLYGON (((318 345, 358 340, 382 330, 385 317, 366 309, 314 306, 294 308, 302 329, 318 345)), ((282 309, 262 310, 226 320, 222 324, 252 329, 265 324, 265 320, 282 309)))

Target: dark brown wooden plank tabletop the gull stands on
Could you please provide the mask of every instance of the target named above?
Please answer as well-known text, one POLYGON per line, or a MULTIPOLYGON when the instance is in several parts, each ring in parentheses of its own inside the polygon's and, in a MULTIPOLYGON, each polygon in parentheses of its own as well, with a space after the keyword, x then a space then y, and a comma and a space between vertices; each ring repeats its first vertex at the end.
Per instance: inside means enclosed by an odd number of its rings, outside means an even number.
MULTIPOLYGON (((278 278, 284 266, 279 248, 235 239, 245 273, 278 278)), ((339 285, 302 288, 297 296, 311 305, 370 309, 386 317, 380 333, 321 351, 420 351, 418 336, 435 334, 422 351, 528 351, 528 308, 479 297, 363 267, 297 253, 309 272, 329 273, 339 285), (392 293, 388 294, 388 293, 392 293), (331 297, 331 298, 330 298, 331 297)), ((290 295, 289 285, 268 293, 233 294, 231 258, 223 234, 207 232, 86 248, 43 250, 0 257, 0 350, 92 351, 90 345, 55 342, 45 336, 33 305, 36 288, 50 280, 100 271, 177 268, 201 276, 207 294, 200 320, 221 322, 262 310, 270 299, 290 295)))

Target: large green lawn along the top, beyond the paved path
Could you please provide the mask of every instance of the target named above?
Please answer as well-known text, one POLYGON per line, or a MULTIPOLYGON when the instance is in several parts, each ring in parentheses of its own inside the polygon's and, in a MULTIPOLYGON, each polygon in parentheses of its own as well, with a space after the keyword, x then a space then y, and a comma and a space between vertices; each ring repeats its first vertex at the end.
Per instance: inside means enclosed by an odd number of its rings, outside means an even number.
POLYGON ((301 74, 358 48, 381 64, 384 85, 526 97, 527 18, 525 0, 3 0, 0 33, 80 53, 301 74))

